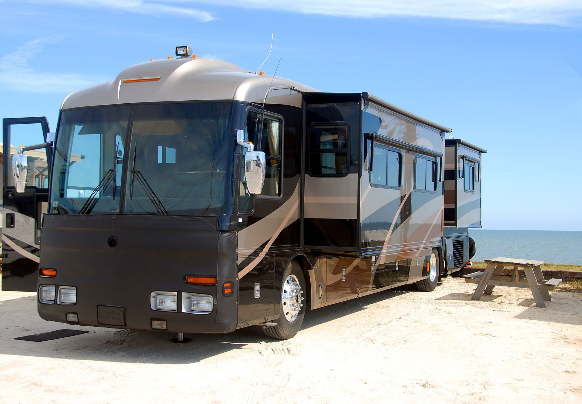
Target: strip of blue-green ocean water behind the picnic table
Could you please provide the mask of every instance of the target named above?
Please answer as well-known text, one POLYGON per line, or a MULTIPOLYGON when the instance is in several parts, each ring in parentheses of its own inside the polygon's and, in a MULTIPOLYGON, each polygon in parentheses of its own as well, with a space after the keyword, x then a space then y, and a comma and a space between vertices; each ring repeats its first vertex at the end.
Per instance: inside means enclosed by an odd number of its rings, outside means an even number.
POLYGON ((469 229, 469 236, 477 247, 473 261, 508 257, 582 265, 582 232, 469 229))

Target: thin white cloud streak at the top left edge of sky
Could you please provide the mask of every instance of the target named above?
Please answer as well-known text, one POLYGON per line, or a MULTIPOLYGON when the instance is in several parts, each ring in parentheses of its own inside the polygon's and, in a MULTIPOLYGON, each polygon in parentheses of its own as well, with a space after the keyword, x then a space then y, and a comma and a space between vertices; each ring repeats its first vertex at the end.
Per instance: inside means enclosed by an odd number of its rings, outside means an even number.
POLYGON ((200 22, 212 21, 215 18, 211 13, 194 8, 176 6, 168 3, 183 5, 183 1, 166 2, 148 0, 20 0, 19 3, 47 4, 52 6, 66 5, 73 7, 92 8, 99 10, 111 10, 114 12, 127 12, 151 15, 156 17, 172 16, 175 18, 192 18, 200 22))

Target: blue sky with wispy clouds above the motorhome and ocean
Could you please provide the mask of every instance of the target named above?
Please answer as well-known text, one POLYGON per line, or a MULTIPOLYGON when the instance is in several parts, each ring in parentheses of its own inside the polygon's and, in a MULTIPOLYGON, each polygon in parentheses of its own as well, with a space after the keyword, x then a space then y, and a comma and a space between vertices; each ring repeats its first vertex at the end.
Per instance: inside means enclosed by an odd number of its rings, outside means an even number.
POLYGON ((368 91, 486 148, 484 228, 582 231, 582 3, 385 3, 0 0, 0 118, 54 130, 70 92, 176 45, 255 70, 274 33, 268 74, 281 59, 278 76, 368 91))

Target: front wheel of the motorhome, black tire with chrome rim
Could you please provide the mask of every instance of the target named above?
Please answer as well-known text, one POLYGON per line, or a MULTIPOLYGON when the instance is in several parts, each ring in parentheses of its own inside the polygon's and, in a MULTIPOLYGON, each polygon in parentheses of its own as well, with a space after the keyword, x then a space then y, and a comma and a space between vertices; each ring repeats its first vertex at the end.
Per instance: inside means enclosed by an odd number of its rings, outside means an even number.
POLYGON ((304 299, 301 295, 305 288, 306 282, 301 266, 296 261, 291 261, 283 275, 277 325, 263 325, 262 331, 265 335, 272 339, 289 339, 299 332, 306 311, 305 305, 301 303, 304 299), (293 310, 297 306, 290 307, 292 304, 299 306, 299 310, 293 310), (296 311, 296 314, 293 314, 293 311, 296 311))

